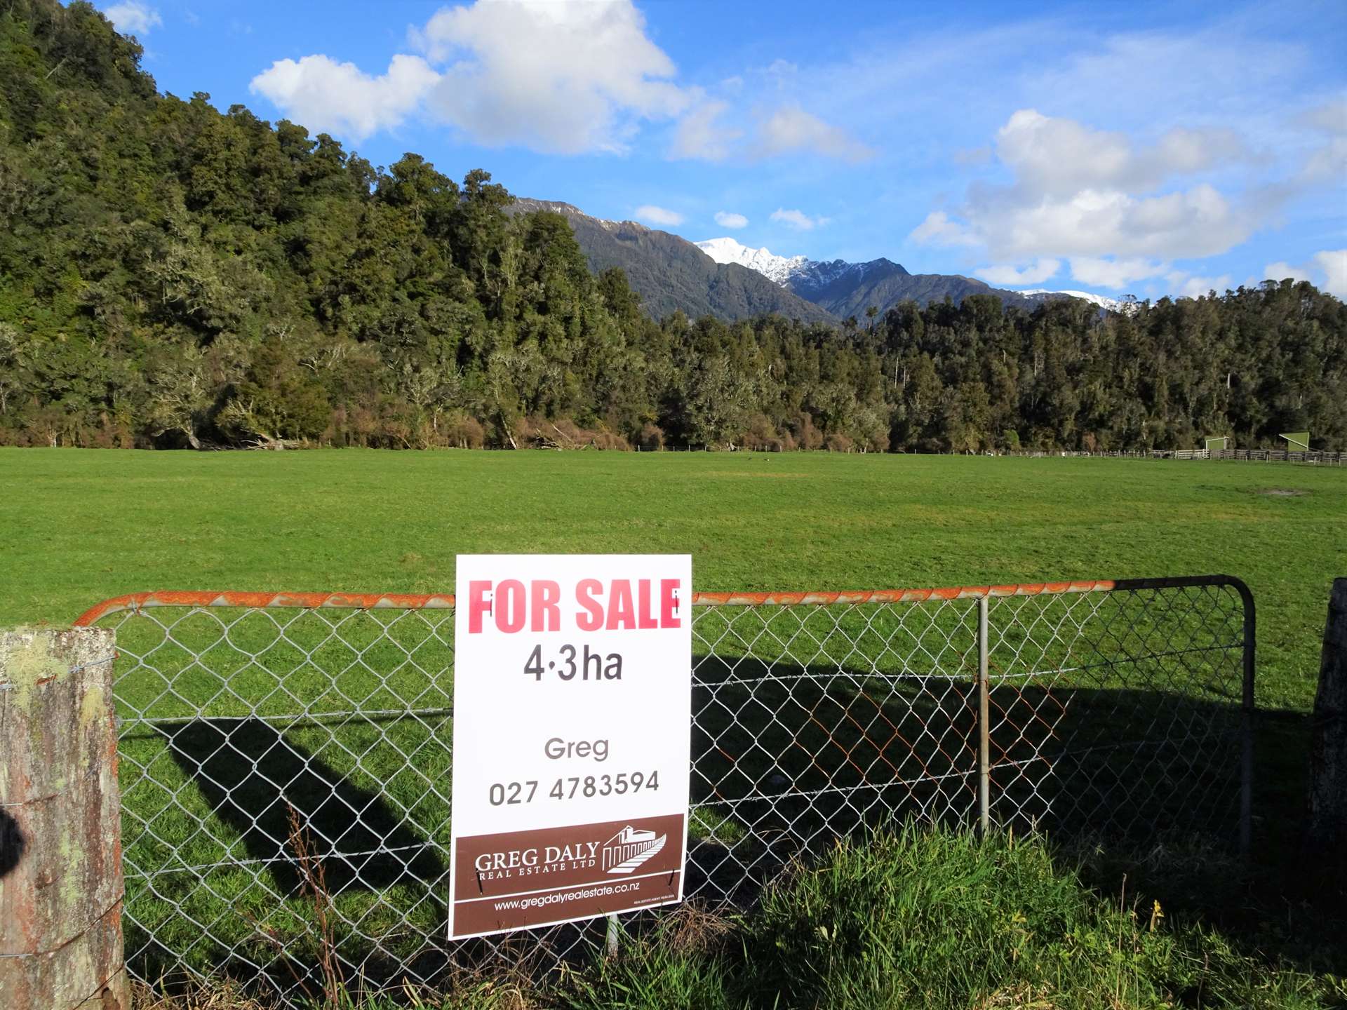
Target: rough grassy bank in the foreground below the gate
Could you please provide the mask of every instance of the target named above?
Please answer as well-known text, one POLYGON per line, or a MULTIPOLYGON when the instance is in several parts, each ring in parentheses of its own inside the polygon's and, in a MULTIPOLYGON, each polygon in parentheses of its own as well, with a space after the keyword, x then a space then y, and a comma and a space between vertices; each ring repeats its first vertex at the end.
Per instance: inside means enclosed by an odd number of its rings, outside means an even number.
MULTIPOLYGON (((1087 886, 1039 838, 907 830, 839 844, 737 917, 683 908, 618 957, 535 983, 508 968, 383 1010, 1158 1010, 1342 1006, 1347 983, 1241 952, 1126 881, 1087 886)), ((147 1007, 263 1007, 229 990, 147 1007)))

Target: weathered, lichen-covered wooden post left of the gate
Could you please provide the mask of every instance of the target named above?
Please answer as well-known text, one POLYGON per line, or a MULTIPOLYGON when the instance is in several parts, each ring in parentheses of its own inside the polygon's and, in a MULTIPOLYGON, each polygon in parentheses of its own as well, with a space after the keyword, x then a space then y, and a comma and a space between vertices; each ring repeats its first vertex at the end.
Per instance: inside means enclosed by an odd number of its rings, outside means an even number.
POLYGON ((128 1010, 114 634, 0 632, 0 1006, 128 1010))

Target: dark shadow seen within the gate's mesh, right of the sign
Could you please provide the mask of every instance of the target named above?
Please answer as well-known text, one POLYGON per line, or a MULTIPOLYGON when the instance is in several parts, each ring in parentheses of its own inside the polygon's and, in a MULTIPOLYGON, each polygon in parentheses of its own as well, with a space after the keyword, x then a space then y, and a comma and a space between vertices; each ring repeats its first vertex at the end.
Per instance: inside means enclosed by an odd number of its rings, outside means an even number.
MULTIPOLYGON (((1238 839, 1238 699, 1099 687, 990 692, 990 816, 1017 832, 1238 839)), ((703 660, 694 687, 688 886, 752 901, 838 836, 978 819, 978 695, 967 677, 881 677, 703 660)))

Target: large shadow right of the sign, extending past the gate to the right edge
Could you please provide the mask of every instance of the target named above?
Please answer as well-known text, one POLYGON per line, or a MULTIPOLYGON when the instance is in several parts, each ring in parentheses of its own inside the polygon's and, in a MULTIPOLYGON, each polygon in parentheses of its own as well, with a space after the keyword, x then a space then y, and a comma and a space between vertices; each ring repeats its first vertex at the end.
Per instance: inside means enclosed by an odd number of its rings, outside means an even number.
MULTIPOLYGON (((752 904, 839 835, 977 823, 971 676, 706 661, 694 699, 692 803, 725 817, 703 817, 709 830, 690 842, 694 894, 752 904)), ((1347 873, 1304 847, 1308 715, 1255 715, 1246 859, 1237 684, 1002 683, 989 708, 994 828, 1041 831, 1064 867, 1114 901, 1157 900, 1246 953, 1347 974, 1347 873)))

